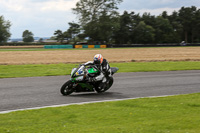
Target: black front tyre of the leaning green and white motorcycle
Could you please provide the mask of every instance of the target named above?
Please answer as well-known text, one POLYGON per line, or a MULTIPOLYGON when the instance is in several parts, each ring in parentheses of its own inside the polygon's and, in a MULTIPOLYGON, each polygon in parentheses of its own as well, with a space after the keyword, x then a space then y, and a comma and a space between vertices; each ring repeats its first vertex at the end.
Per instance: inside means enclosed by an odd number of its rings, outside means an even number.
POLYGON ((60 89, 61 94, 64 96, 70 95, 72 92, 74 92, 73 89, 73 83, 71 80, 67 81, 66 83, 63 84, 63 86, 60 89))

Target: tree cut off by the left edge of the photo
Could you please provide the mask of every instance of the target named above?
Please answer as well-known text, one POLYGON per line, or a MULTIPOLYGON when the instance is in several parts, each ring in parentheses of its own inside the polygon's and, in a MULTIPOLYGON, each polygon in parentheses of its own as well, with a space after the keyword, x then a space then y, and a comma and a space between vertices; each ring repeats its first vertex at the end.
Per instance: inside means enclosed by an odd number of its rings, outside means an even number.
POLYGON ((11 36, 10 26, 10 21, 6 21, 3 16, 0 16, 0 42, 6 42, 11 36))

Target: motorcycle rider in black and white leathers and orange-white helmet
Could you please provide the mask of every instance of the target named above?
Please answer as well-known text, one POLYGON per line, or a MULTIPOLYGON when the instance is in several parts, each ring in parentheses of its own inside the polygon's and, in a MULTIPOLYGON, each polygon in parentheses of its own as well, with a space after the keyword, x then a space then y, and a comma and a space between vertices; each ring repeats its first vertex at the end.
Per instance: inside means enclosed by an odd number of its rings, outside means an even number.
POLYGON ((88 61, 84 64, 85 66, 89 66, 89 65, 95 65, 99 70, 100 70, 100 74, 97 75, 96 77, 90 77, 88 80, 89 82, 96 82, 96 81, 101 81, 102 82, 106 82, 106 80, 104 80, 104 78, 106 79, 106 77, 110 77, 111 76, 111 69, 110 69, 110 65, 108 64, 108 61, 106 59, 103 58, 103 56, 101 54, 96 54, 94 56, 94 61, 88 61))

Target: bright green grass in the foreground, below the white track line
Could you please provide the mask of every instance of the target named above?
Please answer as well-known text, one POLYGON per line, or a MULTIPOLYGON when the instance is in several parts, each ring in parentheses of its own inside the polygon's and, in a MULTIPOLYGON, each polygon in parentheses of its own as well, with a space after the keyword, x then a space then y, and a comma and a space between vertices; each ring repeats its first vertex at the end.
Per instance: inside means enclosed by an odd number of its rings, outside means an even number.
POLYGON ((71 105, 0 114, 0 132, 198 133, 199 110, 200 93, 71 105))

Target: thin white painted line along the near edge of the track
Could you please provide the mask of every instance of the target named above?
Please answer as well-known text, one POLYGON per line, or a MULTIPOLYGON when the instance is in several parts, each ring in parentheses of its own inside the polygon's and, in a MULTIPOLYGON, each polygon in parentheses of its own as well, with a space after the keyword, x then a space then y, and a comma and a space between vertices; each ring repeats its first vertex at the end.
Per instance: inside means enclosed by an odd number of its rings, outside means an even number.
POLYGON ((25 111, 25 110, 36 110, 36 109, 44 109, 44 108, 63 107, 63 106, 70 106, 70 105, 83 105, 83 104, 90 104, 90 103, 114 102, 114 101, 124 101, 124 100, 140 99, 140 98, 159 98, 159 97, 168 97, 168 96, 176 96, 176 95, 161 95, 161 96, 135 97, 135 98, 111 99, 111 100, 91 101, 91 102, 81 102, 81 103, 59 104, 59 105, 51 105, 51 106, 42 106, 42 107, 33 107, 33 108, 0 111, 0 114, 7 114, 7 113, 10 113, 10 112, 15 112, 15 111, 25 111))

